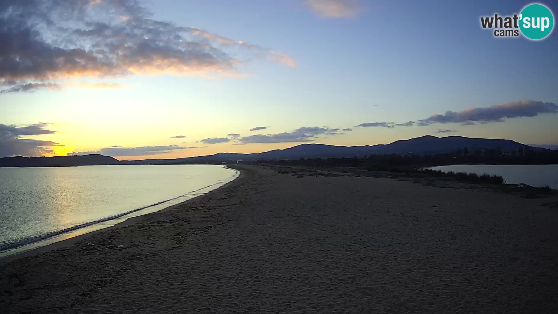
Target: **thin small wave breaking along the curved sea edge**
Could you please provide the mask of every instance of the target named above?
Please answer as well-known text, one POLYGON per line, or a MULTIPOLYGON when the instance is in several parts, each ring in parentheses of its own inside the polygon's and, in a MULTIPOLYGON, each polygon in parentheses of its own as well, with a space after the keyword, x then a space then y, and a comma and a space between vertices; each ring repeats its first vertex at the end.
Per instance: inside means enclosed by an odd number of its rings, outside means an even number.
MULTIPOLYGON (((228 169, 230 169, 230 168, 228 168, 228 169)), ((235 170, 235 169, 231 169, 231 170, 235 170)), ((182 194, 181 196, 165 199, 165 201, 160 201, 160 202, 157 202, 157 203, 153 203, 151 205, 136 208, 134 210, 119 213, 117 215, 113 215, 113 216, 109 216, 109 217, 105 217, 105 218, 100 218, 98 220, 81 223, 80 225, 76 225, 76 226, 69 227, 69 228, 66 228, 66 229, 62 229, 62 230, 58 230, 58 231, 52 231, 52 232, 49 232, 47 234, 32 236, 32 237, 24 237, 24 238, 18 239, 17 241, 14 241, 14 242, 10 242, 10 243, 7 243, 7 244, 0 244, 0 251, 19 248, 20 246, 23 246, 23 245, 32 244, 32 243, 35 243, 35 242, 39 242, 39 241, 42 241, 42 240, 49 239, 50 237, 53 237, 53 236, 65 234, 66 232, 70 232, 70 231, 78 230, 78 229, 85 228, 85 227, 88 227, 88 226, 92 226, 92 225, 95 225, 95 223, 114 220, 116 218, 120 218, 122 216, 126 216, 126 215, 129 215, 129 214, 137 212, 137 211, 145 210, 146 208, 150 208, 150 207, 157 206, 157 205, 160 205, 160 204, 163 204, 163 203, 166 203, 166 202, 170 202, 170 201, 172 201, 174 199, 177 199, 177 198, 181 198, 181 197, 185 197, 185 196, 193 196, 193 194, 195 192, 201 191, 201 190, 206 189, 206 188, 213 187, 214 185, 222 184, 222 183, 225 183, 225 182, 230 182, 230 181, 234 180, 235 178, 237 178, 239 173, 240 172, 238 170, 235 170, 235 174, 232 175, 231 177, 227 178, 227 179, 219 180, 214 184, 210 184, 206 187, 199 188, 199 189, 196 189, 194 191, 190 191, 186 194, 182 194)))

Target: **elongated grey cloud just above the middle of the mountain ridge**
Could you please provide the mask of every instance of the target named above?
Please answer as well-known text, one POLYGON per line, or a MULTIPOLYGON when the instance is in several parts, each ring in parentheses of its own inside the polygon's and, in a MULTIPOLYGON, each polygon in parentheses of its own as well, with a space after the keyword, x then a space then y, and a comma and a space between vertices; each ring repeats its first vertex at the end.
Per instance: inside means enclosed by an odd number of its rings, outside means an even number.
POLYGON ((254 143, 287 143, 287 142, 312 142, 316 136, 336 135, 339 134, 339 129, 329 129, 328 127, 299 127, 292 132, 283 132, 278 134, 255 134, 250 136, 241 137, 238 141, 242 144, 254 143))

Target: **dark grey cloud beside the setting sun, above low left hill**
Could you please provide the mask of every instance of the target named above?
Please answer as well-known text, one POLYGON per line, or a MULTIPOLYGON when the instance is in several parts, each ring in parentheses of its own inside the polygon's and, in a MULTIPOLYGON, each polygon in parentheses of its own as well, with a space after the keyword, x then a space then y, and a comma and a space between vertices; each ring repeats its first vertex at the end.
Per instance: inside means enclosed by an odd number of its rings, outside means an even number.
POLYGON ((50 123, 36 123, 32 125, 4 125, 0 124, 0 157, 8 156, 42 156, 54 153, 52 147, 61 146, 57 142, 25 139, 27 135, 54 134, 47 130, 50 123))

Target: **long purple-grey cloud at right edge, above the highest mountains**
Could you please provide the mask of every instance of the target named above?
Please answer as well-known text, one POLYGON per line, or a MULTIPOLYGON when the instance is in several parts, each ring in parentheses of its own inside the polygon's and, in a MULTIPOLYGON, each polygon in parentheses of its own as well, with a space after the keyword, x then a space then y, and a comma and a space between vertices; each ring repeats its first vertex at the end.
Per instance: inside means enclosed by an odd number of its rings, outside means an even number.
POLYGON ((551 102, 521 100, 490 107, 469 108, 460 112, 446 111, 444 115, 432 115, 419 120, 419 126, 432 123, 461 123, 474 125, 475 122, 503 122, 504 118, 535 117, 540 113, 558 113, 558 105, 551 102))

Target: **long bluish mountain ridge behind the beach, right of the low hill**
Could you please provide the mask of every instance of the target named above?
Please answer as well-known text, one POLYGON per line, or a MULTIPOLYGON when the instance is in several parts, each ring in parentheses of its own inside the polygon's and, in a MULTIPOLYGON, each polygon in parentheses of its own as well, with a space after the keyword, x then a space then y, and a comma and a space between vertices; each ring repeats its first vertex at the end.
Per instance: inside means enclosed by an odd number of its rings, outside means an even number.
MULTIPOLYGON (((421 136, 409 140, 398 140, 391 144, 364 146, 335 146, 325 144, 300 144, 286 149, 270 150, 257 154, 217 153, 208 156, 197 156, 178 159, 146 159, 127 160, 128 164, 168 164, 168 163, 196 163, 201 161, 230 161, 230 160, 263 160, 263 159, 300 159, 300 158, 341 158, 364 155, 383 154, 434 154, 449 153, 458 149, 496 149, 502 151, 518 150, 528 145, 512 140, 473 139, 463 136, 421 136)), ((544 150, 532 148, 533 150, 544 150)))

